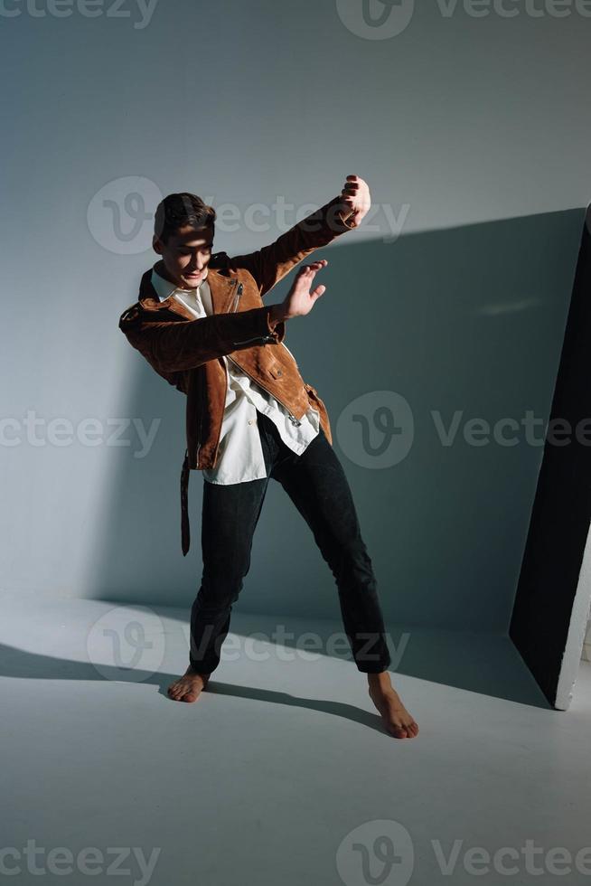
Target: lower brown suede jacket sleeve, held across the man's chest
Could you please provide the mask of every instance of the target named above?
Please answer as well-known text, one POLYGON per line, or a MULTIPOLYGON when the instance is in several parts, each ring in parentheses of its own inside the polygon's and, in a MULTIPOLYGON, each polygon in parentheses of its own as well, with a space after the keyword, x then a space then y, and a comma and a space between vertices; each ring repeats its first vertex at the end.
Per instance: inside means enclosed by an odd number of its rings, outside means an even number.
POLYGON ((270 310, 270 306, 253 307, 238 314, 158 321, 147 318, 135 305, 119 318, 119 329, 155 371, 166 376, 258 344, 281 344, 286 335, 285 321, 274 327, 269 320, 270 310))

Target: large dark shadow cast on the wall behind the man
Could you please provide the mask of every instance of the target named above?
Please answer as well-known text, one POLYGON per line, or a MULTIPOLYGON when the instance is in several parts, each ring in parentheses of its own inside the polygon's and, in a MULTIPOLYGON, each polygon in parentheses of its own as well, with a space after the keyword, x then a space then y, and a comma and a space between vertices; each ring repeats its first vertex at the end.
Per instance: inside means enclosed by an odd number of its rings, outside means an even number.
MULTIPOLYGON (((584 215, 394 242, 349 237, 314 253, 329 259, 327 290, 310 316, 287 324, 286 344, 329 410, 389 624, 508 627, 584 215), (393 407, 392 392, 407 405, 393 407), (380 427, 391 436, 385 455, 375 454, 388 443, 380 427)), ((116 330, 134 297, 113 306, 116 330)), ((86 596, 188 608, 202 570, 202 475, 191 473, 192 549, 183 558, 184 396, 131 348, 122 383, 129 417, 161 421, 145 457, 113 450, 86 596)), ((340 617, 333 575, 274 481, 235 609, 340 617)))

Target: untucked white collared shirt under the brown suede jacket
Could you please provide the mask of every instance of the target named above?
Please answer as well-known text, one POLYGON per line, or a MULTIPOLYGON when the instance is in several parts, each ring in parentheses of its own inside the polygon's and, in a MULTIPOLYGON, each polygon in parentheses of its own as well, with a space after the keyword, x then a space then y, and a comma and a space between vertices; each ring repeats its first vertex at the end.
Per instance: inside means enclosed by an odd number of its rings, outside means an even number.
MULTIPOLYGON (((210 316, 213 313, 207 278, 198 287, 183 289, 175 287, 174 283, 152 269, 152 285, 160 301, 174 294, 174 298, 188 307, 196 317, 210 316)), ((267 476, 267 470, 258 436, 257 410, 273 421, 281 439, 296 455, 301 455, 319 433, 320 415, 318 410, 310 407, 299 424, 295 425, 288 418, 285 407, 242 372, 238 363, 230 356, 223 356, 221 359, 226 366, 227 388, 218 461, 216 467, 205 469, 202 474, 210 483, 221 485, 259 480, 267 476)))

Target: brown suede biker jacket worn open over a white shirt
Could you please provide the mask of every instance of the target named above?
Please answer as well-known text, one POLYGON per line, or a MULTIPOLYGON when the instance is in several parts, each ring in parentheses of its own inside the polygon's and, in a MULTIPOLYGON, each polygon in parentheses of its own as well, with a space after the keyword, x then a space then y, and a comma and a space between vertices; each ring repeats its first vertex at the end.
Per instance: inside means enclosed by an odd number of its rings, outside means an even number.
POLYGON ((301 419, 312 405, 320 414, 326 438, 333 442, 324 402, 304 381, 283 344, 285 321, 270 320, 270 307, 263 305, 262 297, 311 252, 351 231, 350 215, 342 198, 335 197, 270 246, 232 259, 226 252, 211 255, 207 276, 211 316, 195 318, 172 295, 161 302, 149 269, 141 279, 139 300, 119 317, 119 329, 128 342, 155 372, 186 394, 187 448, 181 472, 183 554, 190 545, 189 471, 215 467, 218 456, 227 391, 221 357, 230 354, 293 419, 301 419))

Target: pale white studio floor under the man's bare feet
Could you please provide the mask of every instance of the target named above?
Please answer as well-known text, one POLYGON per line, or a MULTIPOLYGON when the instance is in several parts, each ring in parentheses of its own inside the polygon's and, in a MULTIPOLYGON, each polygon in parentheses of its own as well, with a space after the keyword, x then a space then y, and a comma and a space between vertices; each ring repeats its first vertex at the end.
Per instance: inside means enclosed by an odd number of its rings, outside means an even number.
POLYGON ((3 880, 591 882, 591 664, 556 712, 505 638, 411 631, 393 682, 420 734, 396 740, 342 653, 248 640, 339 624, 234 612, 186 704, 186 610, 2 608, 3 880))

